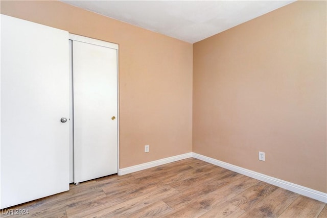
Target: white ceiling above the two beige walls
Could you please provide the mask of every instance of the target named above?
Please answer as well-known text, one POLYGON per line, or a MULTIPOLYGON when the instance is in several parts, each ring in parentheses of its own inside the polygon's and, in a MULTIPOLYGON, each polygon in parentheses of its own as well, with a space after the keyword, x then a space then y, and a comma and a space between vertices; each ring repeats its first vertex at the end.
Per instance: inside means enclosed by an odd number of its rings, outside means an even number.
POLYGON ((295 1, 61 1, 194 43, 295 1))

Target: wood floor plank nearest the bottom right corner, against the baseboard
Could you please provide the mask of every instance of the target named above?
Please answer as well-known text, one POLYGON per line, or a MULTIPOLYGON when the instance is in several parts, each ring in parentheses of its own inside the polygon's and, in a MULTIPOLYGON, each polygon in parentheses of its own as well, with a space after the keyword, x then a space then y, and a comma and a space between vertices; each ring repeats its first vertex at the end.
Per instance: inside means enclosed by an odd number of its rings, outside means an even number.
POLYGON ((279 217, 317 217, 324 206, 320 201, 299 196, 279 217))

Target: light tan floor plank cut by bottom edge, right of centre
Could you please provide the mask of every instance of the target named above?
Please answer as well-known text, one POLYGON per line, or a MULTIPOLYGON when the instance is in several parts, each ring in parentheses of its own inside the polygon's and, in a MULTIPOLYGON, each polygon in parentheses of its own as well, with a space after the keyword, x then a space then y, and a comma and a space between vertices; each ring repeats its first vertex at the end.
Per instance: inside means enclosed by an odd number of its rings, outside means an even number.
POLYGON ((238 217, 245 211, 239 207, 230 204, 229 202, 224 202, 217 207, 209 210, 200 217, 210 218, 210 217, 238 217))

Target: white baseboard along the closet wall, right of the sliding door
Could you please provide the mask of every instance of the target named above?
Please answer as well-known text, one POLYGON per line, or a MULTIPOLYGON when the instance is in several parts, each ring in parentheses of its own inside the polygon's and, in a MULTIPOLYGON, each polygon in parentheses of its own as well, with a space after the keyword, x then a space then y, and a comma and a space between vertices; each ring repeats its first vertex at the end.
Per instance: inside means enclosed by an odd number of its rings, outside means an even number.
POLYGON ((125 174, 142 171, 143 169, 148 169, 148 168, 151 168, 154 166, 159 166, 159 165, 171 163, 174 161, 178 161, 178 160, 182 160, 182 159, 186 159, 186 158, 190 158, 190 157, 192 157, 192 152, 186 153, 186 154, 181 154, 181 155, 176 155, 173 157, 168 157, 168 158, 164 158, 164 159, 160 159, 160 160, 155 160, 155 161, 151 161, 151 162, 147 162, 147 163, 142 163, 142 164, 138 164, 138 165, 134 165, 134 166, 129 166, 126 168, 119 169, 118 175, 123 176, 125 174))

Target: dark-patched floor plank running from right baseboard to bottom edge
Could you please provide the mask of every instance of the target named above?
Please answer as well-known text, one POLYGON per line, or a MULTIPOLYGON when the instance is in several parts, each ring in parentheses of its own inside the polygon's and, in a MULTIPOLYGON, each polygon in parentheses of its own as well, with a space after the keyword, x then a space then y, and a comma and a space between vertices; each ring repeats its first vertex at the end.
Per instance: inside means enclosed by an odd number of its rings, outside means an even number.
POLYGON ((251 207, 240 217, 278 217, 298 196, 292 191, 277 188, 267 198, 251 207))

